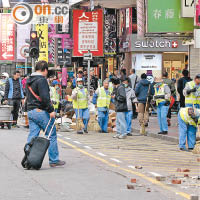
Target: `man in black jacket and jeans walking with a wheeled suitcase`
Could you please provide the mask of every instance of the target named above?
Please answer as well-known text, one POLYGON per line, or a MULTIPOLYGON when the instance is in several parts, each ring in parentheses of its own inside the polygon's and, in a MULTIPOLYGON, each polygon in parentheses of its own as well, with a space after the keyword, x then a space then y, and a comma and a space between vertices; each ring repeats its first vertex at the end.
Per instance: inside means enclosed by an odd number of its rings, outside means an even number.
MULTIPOLYGON (((46 79, 48 74, 47 62, 39 61, 36 64, 35 71, 36 72, 32 73, 27 80, 27 109, 30 129, 27 139, 28 143, 30 143, 33 138, 38 137, 41 129, 45 130, 49 120, 51 120, 48 128, 48 130, 50 130, 56 116, 53 105, 51 104, 49 85, 46 79)), ((59 160, 55 127, 50 136, 48 153, 50 167, 65 165, 65 161, 59 160)))

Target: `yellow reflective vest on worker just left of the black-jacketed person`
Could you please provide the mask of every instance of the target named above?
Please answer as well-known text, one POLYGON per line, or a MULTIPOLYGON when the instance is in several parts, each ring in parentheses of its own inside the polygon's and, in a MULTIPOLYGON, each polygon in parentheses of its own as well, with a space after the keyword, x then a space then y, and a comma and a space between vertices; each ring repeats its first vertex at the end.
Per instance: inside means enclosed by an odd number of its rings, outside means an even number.
POLYGON ((97 107, 107 107, 110 106, 111 95, 110 91, 108 90, 108 94, 106 94, 104 87, 98 89, 98 99, 97 99, 97 107))

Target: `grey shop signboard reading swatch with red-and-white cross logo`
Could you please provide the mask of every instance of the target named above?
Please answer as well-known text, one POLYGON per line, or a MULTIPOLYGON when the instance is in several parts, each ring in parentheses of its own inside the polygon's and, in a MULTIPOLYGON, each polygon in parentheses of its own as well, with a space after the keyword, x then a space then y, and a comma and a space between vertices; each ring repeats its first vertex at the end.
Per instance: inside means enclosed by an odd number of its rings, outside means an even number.
POLYGON ((132 35, 132 52, 187 52, 188 46, 181 40, 164 38, 137 39, 132 35))

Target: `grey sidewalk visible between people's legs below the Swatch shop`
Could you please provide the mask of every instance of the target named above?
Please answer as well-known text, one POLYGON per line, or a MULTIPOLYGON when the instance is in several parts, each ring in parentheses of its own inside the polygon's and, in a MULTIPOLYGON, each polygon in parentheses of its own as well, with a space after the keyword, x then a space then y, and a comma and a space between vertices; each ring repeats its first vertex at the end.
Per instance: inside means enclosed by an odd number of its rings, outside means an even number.
MULTIPOLYGON (((140 131, 138 119, 132 121, 132 129, 135 132, 140 131)), ((160 132, 157 116, 151 116, 149 119, 149 126, 146 128, 147 136, 155 137, 167 141, 178 143, 178 118, 176 115, 172 116, 171 126, 169 127, 168 135, 158 135, 160 132)))

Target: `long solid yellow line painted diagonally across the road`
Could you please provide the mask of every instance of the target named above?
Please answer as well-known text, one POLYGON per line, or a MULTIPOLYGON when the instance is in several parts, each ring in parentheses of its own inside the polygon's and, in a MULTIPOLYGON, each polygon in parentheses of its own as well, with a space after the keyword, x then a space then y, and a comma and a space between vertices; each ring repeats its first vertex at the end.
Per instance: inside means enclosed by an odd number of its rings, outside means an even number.
POLYGON ((130 174, 134 174, 136 176, 139 176, 139 177, 141 177, 141 178, 143 178, 145 180, 148 180, 149 182, 151 182, 151 183, 153 183, 155 185, 158 185, 158 186, 162 187, 163 189, 169 190, 171 192, 175 192, 176 194, 178 194, 178 195, 180 195, 180 196, 182 196, 182 197, 184 197, 186 199, 190 199, 190 195, 189 194, 184 193, 184 192, 179 192, 175 188, 171 188, 171 187, 169 187, 169 186, 167 186, 167 185, 165 185, 165 184, 163 184, 163 183, 161 183, 161 182, 159 182, 159 181, 157 181, 157 180, 155 180, 153 178, 150 178, 150 177, 148 177, 148 176, 146 176, 146 175, 144 175, 144 174, 142 174, 140 172, 136 172, 136 171, 133 171, 133 170, 130 170, 130 169, 126 169, 126 168, 120 167, 119 165, 116 165, 116 164, 112 164, 112 163, 108 162, 107 160, 104 160, 104 159, 102 159, 100 157, 94 156, 94 155, 92 155, 92 154, 90 154, 90 153, 88 153, 88 152, 76 147, 75 145, 72 145, 72 144, 60 139, 60 138, 58 138, 58 141, 63 143, 63 144, 65 144, 65 145, 67 145, 67 146, 72 147, 73 149, 75 149, 75 150, 77 150, 77 151, 79 151, 79 152, 81 152, 81 153, 83 153, 83 154, 85 154, 85 155, 87 155, 87 156, 89 156, 91 158, 94 158, 95 160, 99 160, 99 161, 107 164, 108 166, 115 167, 115 168, 118 168, 118 169, 120 169, 122 171, 128 172, 130 174))

